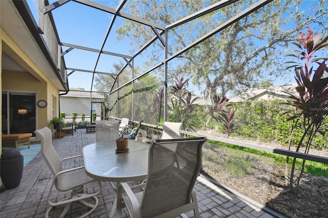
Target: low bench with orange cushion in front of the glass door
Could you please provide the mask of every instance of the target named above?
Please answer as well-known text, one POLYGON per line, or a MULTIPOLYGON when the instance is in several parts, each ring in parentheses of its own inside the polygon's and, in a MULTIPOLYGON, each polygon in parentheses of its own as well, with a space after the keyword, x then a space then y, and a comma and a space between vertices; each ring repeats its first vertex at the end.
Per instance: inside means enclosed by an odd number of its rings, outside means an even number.
POLYGON ((20 145, 28 145, 30 148, 30 137, 31 133, 3 134, 2 146, 18 148, 20 145))

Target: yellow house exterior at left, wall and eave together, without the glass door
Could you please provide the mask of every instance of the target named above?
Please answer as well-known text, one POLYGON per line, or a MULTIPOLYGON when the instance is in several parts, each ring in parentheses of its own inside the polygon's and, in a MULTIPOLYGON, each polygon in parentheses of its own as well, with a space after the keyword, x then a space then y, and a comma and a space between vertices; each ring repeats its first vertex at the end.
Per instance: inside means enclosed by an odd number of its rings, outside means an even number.
MULTIPOLYGON (((68 91, 66 71, 58 71, 58 40, 54 34, 40 34, 36 21, 31 16, 25 1, 3 0, 1 3, 1 90, 3 94, 10 92, 35 94, 35 129, 48 125, 53 114, 59 115, 59 91, 68 91), (51 39, 53 45, 47 45, 45 38, 51 39), (53 48, 52 48, 53 47, 53 48), (56 54, 50 54, 56 51, 56 54), (46 100, 46 107, 38 107, 37 101, 46 100)), ((48 28, 52 28, 50 21, 48 28)), ((0 103, 3 103, 2 97, 0 103)), ((9 104, 10 107, 10 104, 9 104)), ((10 109, 11 110, 11 109, 10 109)), ((14 111, 17 113, 17 111, 14 111)), ((3 121, 3 113, 0 114, 3 121)), ((7 119, 7 118, 6 118, 7 119)), ((1 123, 3 130, 3 122, 1 123)), ((6 132, 6 131, 5 131, 6 132)), ((1 137, 1 136, 0 136, 1 137)), ((33 137, 31 141, 39 141, 33 137)), ((2 147, 2 142, 1 146, 2 147)), ((1 152, 1 149, 0 149, 1 152)))

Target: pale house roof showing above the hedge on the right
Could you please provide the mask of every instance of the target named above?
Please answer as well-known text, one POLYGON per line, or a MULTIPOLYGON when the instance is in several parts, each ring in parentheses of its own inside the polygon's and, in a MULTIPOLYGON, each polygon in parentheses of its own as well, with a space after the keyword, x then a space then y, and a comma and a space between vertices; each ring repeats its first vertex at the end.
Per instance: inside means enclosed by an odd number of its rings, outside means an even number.
POLYGON ((242 96, 236 96, 229 100, 229 102, 241 102, 245 100, 286 100, 290 99, 289 95, 298 96, 296 92, 297 83, 270 86, 268 88, 250 89, 243 93, 242 96))

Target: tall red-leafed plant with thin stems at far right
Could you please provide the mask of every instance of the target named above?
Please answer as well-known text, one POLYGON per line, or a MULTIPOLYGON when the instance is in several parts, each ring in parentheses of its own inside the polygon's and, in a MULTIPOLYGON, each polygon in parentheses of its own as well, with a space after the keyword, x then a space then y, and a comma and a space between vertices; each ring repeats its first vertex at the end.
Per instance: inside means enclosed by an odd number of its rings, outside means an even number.
MULTIPOLYGON (((294 64, 288 68, 295 68, 295 79, 297 82, 296 91, 299 96, 289 94, 290 98, 293 100, 290 104, 295 106, 296 112, 292 113, 287 120, 295 120, 294 127, 296 126, 297 121, 302 121, 304 132, 298 141, 296 151, 298 152, 301 145, 304 144, 305 153, 308 154, 315 134, 319 133, 324 136, 328 128, 327 123, 325 122, 325 118, 328 115, 328 68, 326 66, 328 57, 318 58, 315 56, 315 53, 318 50, 323 50, 328 47, 328 36, 316 43, 321 37, 321 34, 314 36, 310 27, 308 28, 306 36, 300 32, 297 33, 297 36, 300 44, 294 44, 298 46, 301 52, 299 55, 292 54, 288 56, 297 58, 299 62, 288 62, 294 64)), ((293 189, 295 162, 296 158, 293 159, 291 168, 291 190, 293 189)), ((299 185, 304 170, 304 164, 305 160, 303 160, 301 173, 297 180, 297 186, 299 185)))

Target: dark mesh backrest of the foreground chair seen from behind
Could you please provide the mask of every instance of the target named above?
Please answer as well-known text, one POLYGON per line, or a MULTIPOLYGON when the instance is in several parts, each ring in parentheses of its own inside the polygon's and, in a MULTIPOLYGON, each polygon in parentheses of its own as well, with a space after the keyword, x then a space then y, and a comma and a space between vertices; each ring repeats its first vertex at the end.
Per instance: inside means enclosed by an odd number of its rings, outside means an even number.
POLYGON ((152 141, 141 217, 154 217, 191 202, 206 140, 201 137, 152 141))

